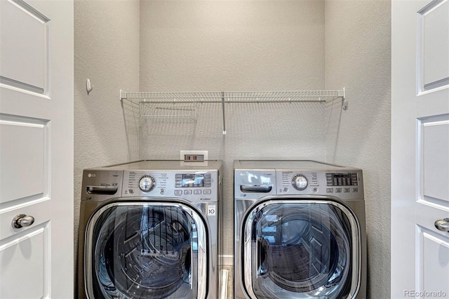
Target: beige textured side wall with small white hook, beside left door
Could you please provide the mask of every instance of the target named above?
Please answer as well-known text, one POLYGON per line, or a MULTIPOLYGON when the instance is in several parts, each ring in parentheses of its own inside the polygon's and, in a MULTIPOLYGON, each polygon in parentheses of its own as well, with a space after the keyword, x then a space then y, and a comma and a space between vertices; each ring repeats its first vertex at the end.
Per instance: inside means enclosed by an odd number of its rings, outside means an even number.
POLYGON ((75 0, 74 20, 76 253, 83 169, 138 158, 137 133, 125 125, 119 89, 139 88, 139 1, 75 0), (93 85, 89 95, 86 79, 93 85))

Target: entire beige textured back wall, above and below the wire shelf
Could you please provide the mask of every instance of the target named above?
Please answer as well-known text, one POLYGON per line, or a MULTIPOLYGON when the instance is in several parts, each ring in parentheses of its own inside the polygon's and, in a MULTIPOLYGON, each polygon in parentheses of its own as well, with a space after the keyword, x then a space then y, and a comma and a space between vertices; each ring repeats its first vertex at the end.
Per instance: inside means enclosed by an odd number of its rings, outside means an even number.
MULTIPOLYGON (((280 91, 324 87, 324 1, 141 1, 141 91, 280 91)), ((208 150, 225 160, 226 240, 234 239, 234 159, 325 158, 320 103, 197 108, 187 123, 142 121, 140 157, 208 150)), ((225 255, 233 255, 232 242, 225 255)))

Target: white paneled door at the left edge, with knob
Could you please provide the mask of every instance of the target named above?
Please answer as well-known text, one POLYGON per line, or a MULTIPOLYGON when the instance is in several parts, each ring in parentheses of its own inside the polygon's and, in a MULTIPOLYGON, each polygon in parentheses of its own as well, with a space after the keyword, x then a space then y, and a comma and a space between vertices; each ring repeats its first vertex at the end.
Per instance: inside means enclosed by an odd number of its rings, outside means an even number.
POLYGON ((0 298, 72 298, 72 0, 0 0, 0 298))

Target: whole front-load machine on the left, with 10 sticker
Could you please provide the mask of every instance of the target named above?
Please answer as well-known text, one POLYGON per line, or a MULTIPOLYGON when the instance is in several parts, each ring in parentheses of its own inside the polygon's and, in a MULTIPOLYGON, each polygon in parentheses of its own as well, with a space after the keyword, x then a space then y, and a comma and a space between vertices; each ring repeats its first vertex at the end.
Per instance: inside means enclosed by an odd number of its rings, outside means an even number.
POLYGON ((217 298, 222 162, 83 171, 81 298, 217 298))

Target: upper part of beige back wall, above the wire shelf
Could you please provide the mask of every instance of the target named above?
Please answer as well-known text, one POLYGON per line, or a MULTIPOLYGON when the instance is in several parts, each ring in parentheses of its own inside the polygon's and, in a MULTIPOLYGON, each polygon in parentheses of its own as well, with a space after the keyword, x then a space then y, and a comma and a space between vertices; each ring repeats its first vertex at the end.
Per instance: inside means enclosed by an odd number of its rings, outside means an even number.
POLYGON ((323 88, 322 0, 140 3, 148 91, 323 88))

